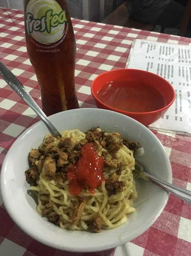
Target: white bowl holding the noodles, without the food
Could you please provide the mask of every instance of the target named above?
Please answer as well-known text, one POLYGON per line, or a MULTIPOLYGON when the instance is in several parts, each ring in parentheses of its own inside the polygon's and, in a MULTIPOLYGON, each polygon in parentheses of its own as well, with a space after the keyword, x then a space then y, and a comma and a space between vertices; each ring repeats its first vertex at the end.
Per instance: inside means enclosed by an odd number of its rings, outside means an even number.
MULTIPOLYGON (((52 115, 50 120, 61 132, 67 129, 86 131, 100 126, 103 130, 120 132, 122 136, 140 141, 144 155, 137 160, 147 171, 164 181, 172 182, 169 159, 157 137, 134 119, 104 109, 74 109, 52 115)), ((110 249, 146 231, 159 217, 168 200, 168 193, 156 185, 138 179, 137 209, 128 222, 116 229, 98 234, 85 231, 67 231, 49 223, 36 212, 35 201, 27 194, 25 180, 28 153, 36 148, 48 133, 42 121, 26 130, 12 145, 1 169, 1 192, 4 205, 13 221, 28 235, 48 246, 72 252, 95 252, 110 249)))

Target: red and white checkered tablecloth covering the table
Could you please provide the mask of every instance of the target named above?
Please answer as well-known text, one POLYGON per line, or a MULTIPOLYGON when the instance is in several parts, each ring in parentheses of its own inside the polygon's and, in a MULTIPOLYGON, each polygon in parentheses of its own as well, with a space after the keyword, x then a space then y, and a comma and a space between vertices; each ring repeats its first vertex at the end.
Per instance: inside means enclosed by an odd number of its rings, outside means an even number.
MULTIPOLYGON (((135 38, 191 44, 191 39, 73 19, 77 43, 76 91, 82 107, 94 107, 90 92, 100 73, 124 68, 135 38)), ((40 90, 25 45, 23 12, 0 8, 0 61, 41 106, 40 90)), ((0 78, 0 166, 15 139, 38 120, 37 115, 0 78)), ((170 157, 173 183, 191 190, 191 137, 154 132, 170 157)), ((28 237, 7 214, 0 195, 0 256, 190 256, 191 206, 173 195, 157 221, 144 234, 117 249, 69 253, 28 237)))

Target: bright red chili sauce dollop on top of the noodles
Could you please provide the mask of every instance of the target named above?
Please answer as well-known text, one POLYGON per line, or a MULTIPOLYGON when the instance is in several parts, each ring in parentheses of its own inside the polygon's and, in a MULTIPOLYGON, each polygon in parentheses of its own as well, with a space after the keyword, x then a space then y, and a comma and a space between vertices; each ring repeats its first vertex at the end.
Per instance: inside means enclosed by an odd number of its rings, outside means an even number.
POLYGON ((75 165, 69 167, 67 172, 70 193, 77 196, 86 187, 90 193, 94 193, 94 189, 105 180, 103 167, 104 160, 97 155, 94 145, 87 143, 82 146, 81 157, 75 165))

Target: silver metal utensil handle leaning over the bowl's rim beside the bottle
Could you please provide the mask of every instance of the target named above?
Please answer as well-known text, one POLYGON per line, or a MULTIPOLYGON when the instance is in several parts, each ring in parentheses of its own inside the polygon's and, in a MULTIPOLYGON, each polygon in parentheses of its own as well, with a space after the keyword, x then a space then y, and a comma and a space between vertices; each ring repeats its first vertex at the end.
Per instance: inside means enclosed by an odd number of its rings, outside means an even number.
POLYGON ((25 87, 21 82, 16 78, 13 73, 0 62, 0 75, 3 79, 10 85, 10 87, 15 91, 21 99, 23 99, 36 113, 40 116, 43 122, 47 125, 51 134, 54 136, 61 136, 56 127, 50 122, 48 117, 44 114, 42 109, 37 105, 37 103, 32 99, 31 95, 26 91, 25 87))

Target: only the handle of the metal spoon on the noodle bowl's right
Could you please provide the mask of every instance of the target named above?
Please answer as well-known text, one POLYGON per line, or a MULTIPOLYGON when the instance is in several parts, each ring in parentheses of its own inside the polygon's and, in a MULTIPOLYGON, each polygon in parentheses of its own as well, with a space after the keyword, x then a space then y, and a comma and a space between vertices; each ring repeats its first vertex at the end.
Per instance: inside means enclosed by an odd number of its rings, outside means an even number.
POLYGON ((181 187, 175 186, 173 184, 167 183, 165 181, 162 181, 156 177, 154 177, 151 174, 148 174, 144 172, 144 175, 146 176, 145 179, 151 181, 152 183, 162 187, 166 191, 169 191, 170 193, 174 194, 175 196, 178 196, 188 204, 191 204, 191 191, 182 189, 181 187))

